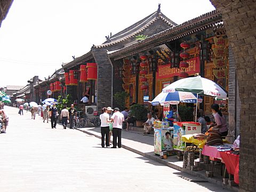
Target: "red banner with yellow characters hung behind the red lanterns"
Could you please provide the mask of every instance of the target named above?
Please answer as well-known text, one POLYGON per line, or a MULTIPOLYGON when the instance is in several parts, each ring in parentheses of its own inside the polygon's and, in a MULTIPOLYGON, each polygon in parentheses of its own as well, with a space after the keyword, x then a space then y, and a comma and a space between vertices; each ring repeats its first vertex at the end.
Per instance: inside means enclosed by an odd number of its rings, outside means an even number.
MULTIPOLYGON (((200 72, 200 60, 199 57, 193 58, 186 60, 188 62, 189 66, 186 68, 186 72, 188 75, 194 75, 195 73, 200 72)), ((168 77, 173 77, 173 76, 178 76, 180 73, 179 68, 171 68, 171 65, 161 65, 158 66, 158 70, 156 73, 156 78, 157 79, 162 79, 162 78, 168 78, 168 77)))

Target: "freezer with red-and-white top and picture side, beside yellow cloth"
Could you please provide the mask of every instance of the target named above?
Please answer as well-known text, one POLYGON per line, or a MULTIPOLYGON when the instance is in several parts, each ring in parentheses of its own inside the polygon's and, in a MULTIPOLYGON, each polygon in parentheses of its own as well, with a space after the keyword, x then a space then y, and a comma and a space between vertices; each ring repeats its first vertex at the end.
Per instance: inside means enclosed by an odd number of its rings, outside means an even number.
POLYGON ((186 143, 182 141, 182 135, 201 133, 201 124, 195 122, 173 123, 173 148, 186 150, 186 143))

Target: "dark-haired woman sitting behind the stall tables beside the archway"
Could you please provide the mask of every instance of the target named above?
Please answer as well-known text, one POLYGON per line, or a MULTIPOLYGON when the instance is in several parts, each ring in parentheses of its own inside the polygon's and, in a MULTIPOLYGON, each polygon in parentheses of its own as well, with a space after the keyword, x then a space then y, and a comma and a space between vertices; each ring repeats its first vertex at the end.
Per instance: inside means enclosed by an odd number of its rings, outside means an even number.
POLYGON ((212 125, 213 129, 218 130, 222 136, 227 136, 228 127, 225 117, 220 111, 220 107, 217 104, 211 105, 212 115, 214 116, 215 123, 212 125))

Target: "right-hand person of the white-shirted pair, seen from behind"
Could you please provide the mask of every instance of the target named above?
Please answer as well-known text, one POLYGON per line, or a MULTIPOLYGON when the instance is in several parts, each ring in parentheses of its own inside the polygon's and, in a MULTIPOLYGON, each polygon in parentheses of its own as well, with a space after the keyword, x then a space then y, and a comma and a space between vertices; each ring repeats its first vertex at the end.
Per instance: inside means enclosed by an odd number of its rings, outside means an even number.
POLYGON ((124 121, 124 115, 120 113, 118 107, 116 107, 114 110, 116 110, 116 112, 111 116, 111 120, 114 122, 113 123, 113 147, 111 148, 116 148, 116 145, 118 146, 118 148, 121 148, 122 147, 122 144, 121 144, 122 124, 124 121), (118 144, 117 144, 117 138, 118 138, 118 144))

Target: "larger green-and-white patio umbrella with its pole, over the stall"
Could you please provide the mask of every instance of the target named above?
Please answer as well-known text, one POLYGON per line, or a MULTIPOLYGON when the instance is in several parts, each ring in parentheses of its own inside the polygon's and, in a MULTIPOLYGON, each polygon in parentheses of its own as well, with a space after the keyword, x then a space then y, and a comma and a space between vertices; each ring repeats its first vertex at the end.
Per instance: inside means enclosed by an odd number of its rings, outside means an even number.
MULTIPOLYGON (((184 91, 198 94, 217 97, 219 99, 228 99, 228 92, 219 84, 210 79, 201 76, 183 78, 163 89, 164 93, 172 93, 175 91, 184 91)), ((196 102, 196 116, 197 116, 197 102, 196 102)))

